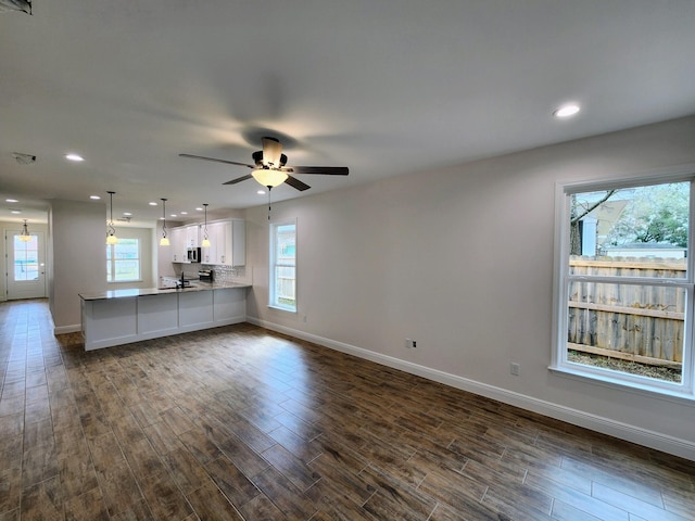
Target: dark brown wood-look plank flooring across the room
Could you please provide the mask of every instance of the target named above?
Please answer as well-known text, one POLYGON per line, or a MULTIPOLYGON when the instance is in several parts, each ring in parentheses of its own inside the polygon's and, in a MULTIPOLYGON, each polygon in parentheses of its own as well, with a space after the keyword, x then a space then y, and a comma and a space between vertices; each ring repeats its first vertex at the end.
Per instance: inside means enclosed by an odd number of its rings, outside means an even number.
POLYGON ((695 463, 239 325, 85 353, 0 303, 0 521, 695 520, 695 463))

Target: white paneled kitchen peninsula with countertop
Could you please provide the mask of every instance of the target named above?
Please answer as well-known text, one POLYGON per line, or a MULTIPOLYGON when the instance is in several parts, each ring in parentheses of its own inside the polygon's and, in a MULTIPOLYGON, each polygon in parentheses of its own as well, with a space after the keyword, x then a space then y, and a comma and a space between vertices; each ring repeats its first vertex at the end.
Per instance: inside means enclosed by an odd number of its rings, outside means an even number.
POLYGON ((85 351, 243 322, 250 287, 198 282, 80 294, 85 351))

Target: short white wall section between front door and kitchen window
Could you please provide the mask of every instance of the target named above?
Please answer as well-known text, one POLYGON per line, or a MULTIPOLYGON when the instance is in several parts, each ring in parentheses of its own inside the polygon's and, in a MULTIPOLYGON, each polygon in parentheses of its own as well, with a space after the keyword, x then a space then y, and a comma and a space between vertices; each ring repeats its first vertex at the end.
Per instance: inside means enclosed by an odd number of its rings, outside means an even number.
POLYGON ((56 333, 79 331, 79 293, 106 291, 104 203, 52 201, 49 298, 56 333))

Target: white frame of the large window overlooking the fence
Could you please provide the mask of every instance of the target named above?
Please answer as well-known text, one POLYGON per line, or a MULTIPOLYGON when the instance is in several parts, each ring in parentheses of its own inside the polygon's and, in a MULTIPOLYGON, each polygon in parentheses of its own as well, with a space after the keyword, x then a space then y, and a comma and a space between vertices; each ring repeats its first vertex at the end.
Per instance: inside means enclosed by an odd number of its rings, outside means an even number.
POLYGON ((619 386, 623 390, 657 394, 665 397, 695 399, 695 255, 688 254, 684 279, 648 279, 643 277, 603 277, 569 274, 569 221, 570 199, 574 193, 599 190, 636 188, 641 186, 690 182, 688 250, 695 245, 695 167, 688 165, 632 178, 557 182, 555 185, 555 247, 553 274, 553 339, 551 365, 548 369, 560 376, 587 379, 595 383, 619 386), (683 363, 681 382, 666 382, 657 379, 622 373, 609 369, 595 368, 567 358, 568 302, 570 281, 608 282, 637 285, 677 287, 685 291, 685 313, 683 333, 683 363))

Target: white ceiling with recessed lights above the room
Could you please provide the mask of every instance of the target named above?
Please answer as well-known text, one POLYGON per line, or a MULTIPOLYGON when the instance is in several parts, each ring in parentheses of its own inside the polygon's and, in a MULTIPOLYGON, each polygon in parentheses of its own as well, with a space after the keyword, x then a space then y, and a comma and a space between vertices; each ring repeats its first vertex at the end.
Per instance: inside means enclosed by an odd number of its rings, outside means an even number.
POLYGON ((277 201, 694 114, 694 25, 693 0, 34 0, 0 13, 0 220, 108 190, 136 220, 265 204, 178 156, 251 163, 265 135, 350 167, 277 201))

